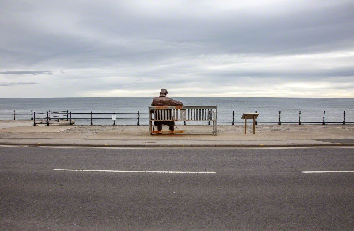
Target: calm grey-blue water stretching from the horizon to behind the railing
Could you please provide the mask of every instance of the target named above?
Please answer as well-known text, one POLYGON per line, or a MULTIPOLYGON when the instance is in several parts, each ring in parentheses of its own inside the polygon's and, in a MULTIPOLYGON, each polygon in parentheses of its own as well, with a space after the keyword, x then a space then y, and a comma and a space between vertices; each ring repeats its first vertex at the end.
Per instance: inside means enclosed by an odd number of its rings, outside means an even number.
MULTIPOLYGON (((282 123, 298 122, 298 112, 318 112, 322 114, 302 114, 301 117, 319 117, 319 119, 303 118, 301 122, 322 122, 323 111, 341 112, 341 114, 326 114, 326 122, 343 122, 343 119, 333 119, 327 117, 343 117, 343 111, 347 113, 354 112, 354 98, 222 98, 222 97, 174 97, 174 99, 182 101, 186 106, 192 105, 208 105, 218 106, 218 112, 279 112, 281 117, 295 117, 294 119, 282 119, 282 123), (283 114, 284 112, 284 114, 283 114), (285 112, 297 112, 297 114, 285 114, 285 112)), ((51 109, 65 110, 68 109, 72 113, 134 113, 134 114, 118 114, 117 118, 134 118, 134 119, 118 119, 118 123, 136 123, 136 113, 146 113, 148 106, 151 104, 150 97, 136 97, 136 98, 1 98, 0 111, 6 110, 38 110, 47 111, 51 109)), ((6 114, 0 112, 1 116, 6 114)), ((239 118, 241 114, 235 114, 235 118, 239 118)), ((273 122, 277 123, 279 119, 261 119, 265 117, 278 117, 279 114, 261 114, 258 123, 273 122)), ((27 117, 27 116, 22 116, 27 117)), ((73 119, 77 123, 89 123, 87 118, 90 115, 73 114, 73 119)), ((143 114, 141 118, 146 118, 143 114)), ((218 122, 232 122, 232 119, 222 119, 222 117, 232 117, 232 114, 219 114, 218 122)), ((354 117, 354 114, 347 114, 346 117, 354 117)), ((17 116, 21 118, 21 116, 17 116)), ((93 115, 94 123, 112 123, 112 116, 93 115), (107 118, 107 119, 95 119, 107 118)), ((146 119, 141 119, 140 122, 147 122, 146 119)), ((235 119, 236 123, 242 123, 240 119, 235 119)), ((346 122, 354 122, 354 119, 348 118, 346 122)))

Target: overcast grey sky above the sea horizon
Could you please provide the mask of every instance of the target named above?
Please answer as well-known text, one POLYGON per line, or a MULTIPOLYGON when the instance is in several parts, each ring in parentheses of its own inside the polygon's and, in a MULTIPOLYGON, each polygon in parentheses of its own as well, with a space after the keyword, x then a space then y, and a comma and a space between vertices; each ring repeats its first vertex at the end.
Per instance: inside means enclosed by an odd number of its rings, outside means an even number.
POLYGON ((354 97, 354 1, 0 0, 0 97, 354 97))

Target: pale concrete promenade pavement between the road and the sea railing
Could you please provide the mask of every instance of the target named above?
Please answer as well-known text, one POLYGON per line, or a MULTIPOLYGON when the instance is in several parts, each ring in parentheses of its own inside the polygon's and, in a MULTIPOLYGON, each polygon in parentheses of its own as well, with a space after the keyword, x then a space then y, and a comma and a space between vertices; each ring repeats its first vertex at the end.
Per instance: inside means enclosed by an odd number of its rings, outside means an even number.
MULTIPOLYGON (((214 135, 149 135, 146 125, 32 126, 30 120, 0 120, 0 144, 136 147, 333 146, 354 144, 351 125, 218 125, 214 135)), ((211 130, 178 125, 176 130, 211 130)), ((167 129, 164 128, 164 129, 167 129)))

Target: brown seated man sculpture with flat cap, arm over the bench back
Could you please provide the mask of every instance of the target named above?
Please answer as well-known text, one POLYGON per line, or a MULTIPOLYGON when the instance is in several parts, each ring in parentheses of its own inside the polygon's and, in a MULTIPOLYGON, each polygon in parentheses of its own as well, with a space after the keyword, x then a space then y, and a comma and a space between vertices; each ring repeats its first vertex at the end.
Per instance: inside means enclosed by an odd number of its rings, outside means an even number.
MULTIPOLYGON (((183 106, 183 103, 177 100, 173 100, 173 98, 169 98, 166 96, 167 90, 162 88, 159 97, 155 97, 151 106, 183 106)), ((170 130, 175 130, 175 122, 174 121, 156 121, 157 130, 162 130, 162 124, 170 126, 170 130)))

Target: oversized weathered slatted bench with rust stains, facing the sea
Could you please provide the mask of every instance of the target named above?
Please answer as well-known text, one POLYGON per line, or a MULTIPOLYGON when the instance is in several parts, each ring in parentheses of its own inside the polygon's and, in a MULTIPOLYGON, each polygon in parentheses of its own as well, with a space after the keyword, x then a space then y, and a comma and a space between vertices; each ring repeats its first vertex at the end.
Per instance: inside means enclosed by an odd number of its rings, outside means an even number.
POLYGON ((217 134, 217 106, 149 106, 149 131, 154 133, 178 134, 217 134), (162 130, 155 131, 153 123, 158 121, 211 121, 213 130, 162 130))

